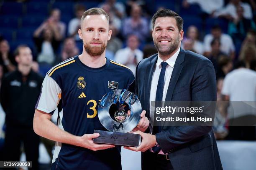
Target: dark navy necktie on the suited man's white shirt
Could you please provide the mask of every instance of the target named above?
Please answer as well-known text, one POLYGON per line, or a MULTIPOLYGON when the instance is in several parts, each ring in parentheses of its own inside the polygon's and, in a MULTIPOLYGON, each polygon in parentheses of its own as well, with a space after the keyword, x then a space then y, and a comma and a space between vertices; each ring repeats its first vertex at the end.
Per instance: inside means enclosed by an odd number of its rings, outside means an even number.
MULTIPOLYGON (((166 66, 167 66, 167 62, 161 62, 161 72, 159 75, 159 79, 158 79, 158 84, 157 84, 157 88, 156 88, 156 101, 162 101, 163 98, 163 91, 164 91, 164 75, 165 75, 165 70, 166 70, 166 66)), ((157 107, 157 106, 155 106, 157 107)), ((153 127, 153 132, 152 134, 155 135, 156 133, 161 132, 161 126, 154 126, 153 127)), ((159 153, 161 148, 154 146, 152 147, 152 150, 154 151, 154 153, 159 153)))

